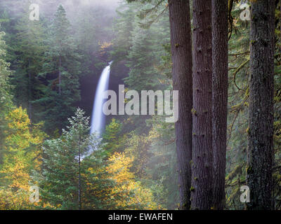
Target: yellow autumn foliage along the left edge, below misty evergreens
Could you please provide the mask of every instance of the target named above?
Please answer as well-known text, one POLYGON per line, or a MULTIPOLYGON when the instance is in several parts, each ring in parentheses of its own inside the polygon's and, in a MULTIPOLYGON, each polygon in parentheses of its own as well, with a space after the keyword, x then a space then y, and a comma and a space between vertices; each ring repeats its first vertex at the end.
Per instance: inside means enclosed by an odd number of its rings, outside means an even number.
POLYGON ((46 134, 39 130, 40 125, 31 125, 26 110, 21 107, 8 113, 6 120, 0 209, 31 209, 34 204, 29 200, 30 172, 40 166, 40 148, 46 134))

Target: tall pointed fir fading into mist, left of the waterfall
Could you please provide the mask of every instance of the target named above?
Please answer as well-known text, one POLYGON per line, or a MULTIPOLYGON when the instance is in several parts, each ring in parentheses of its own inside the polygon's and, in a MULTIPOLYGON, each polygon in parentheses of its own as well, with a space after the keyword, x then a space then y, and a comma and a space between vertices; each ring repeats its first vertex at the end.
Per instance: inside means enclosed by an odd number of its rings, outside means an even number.
POLYGON ((37 115, 46 120, 46 130, 51 132, 55 128, 61 130, 65 127, 67 118, 74 113, 74 104, 80 99, 80 55, 61 5, 55 13, 48 36, 48 50, 40 74, 48 82, 48 87, 42 90, 44 94, 34 103, 41 105, 42 110, 37 115))

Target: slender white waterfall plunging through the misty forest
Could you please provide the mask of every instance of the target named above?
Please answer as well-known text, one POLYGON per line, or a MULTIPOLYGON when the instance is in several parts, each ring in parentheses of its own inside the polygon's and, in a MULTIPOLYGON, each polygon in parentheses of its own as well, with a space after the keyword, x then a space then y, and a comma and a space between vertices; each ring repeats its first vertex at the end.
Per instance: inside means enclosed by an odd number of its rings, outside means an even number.
POLYGON ((100 80, 98 80, 98 87, 96 89, 96 96, 93 103, 93 113, 91 118, 91 134, 96 133, 97 137, 100 137, 100 134, 103 132, 105 126, 105 115, 103 114, 103 92, 108 89, 108 83, 110 79, 110 66, 103 69, 103 72, 100 75, 100 80))

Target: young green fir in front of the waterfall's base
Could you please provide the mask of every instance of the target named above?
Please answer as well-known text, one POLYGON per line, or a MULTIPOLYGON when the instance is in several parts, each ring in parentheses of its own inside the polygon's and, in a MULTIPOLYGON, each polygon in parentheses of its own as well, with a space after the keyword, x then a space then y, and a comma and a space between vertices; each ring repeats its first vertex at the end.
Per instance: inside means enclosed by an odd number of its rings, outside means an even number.
POLYGON ((114 204, 109 196, 113 183, 105 172, 105 153, 99 150, 99 140, 89 135, 89 118, 77 109, 68 120, 70 126, 62 136, 44 144, 42 172, 37 175, 41 198, 55 209, 110 208, 114 204), (89 148, 97 151, 85 158, 89 148))

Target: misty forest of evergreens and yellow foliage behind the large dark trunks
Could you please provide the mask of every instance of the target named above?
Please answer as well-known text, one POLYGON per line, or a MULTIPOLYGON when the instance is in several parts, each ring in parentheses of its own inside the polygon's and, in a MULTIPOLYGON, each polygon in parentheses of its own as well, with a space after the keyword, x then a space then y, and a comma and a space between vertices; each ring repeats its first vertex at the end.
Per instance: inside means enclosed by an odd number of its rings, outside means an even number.
MULTIPOLYGON (((251 172, 247 135, 251 132, 250 45, 254 42, 250 22, 240 20, 240 4, 228 1, 226 22, 224 209, 245 208, 240 187, 247 186, 251 172)), ((274 4, 270 194, 271 209, 280 210, 281 1, 274 4)), ((195 32, 191 2, 190 12, 195 32)), ((163 0, 0 0, 0 209, 186 207, 178 190, 182 186, 178 183, 176 127, 165 123, 165 116, 107 116, 102 137, 89 134, 96 85, 108 62, 113 61, 110 90, 118 92, 119 84, 125 85, 125 91, 173 90, 172 53, 179 46, 171 45, 170 22, 168 1, 163 0), (31 3, 40 6, 39 21, 29 20, 31 3), (98 150, 78 160, 90 146, 98 150), (30 186, 39 187, 39 202, 30 202, 30 186)), ((192 90, 192 85, 186 88, 192 90)), ((197 116, 195 106, 188 113, 197 116)), ((191 130, 190 134, 196 137, 191 130)), ((197 181, 197 176, 192 180, 197 181)), ((191 194, 196 193, 194 187, 188 188, 191 194)))

